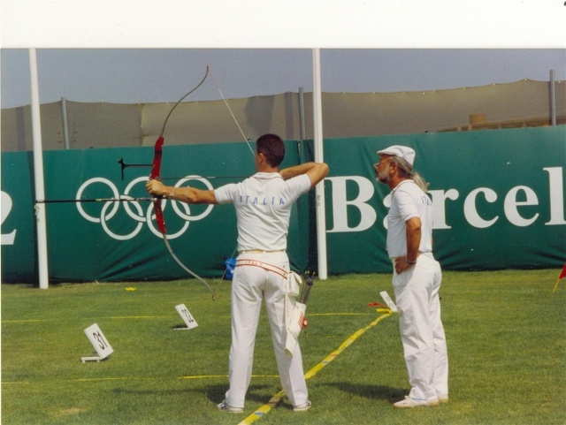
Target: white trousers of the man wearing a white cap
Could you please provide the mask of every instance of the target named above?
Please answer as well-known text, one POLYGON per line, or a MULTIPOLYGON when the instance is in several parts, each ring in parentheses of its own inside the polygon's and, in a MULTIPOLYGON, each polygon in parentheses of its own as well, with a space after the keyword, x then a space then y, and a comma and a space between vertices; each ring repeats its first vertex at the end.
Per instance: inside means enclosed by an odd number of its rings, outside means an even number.
POLYGON ((440 320, 440 264, 420 254, 417 264, 394 272, 399 330, 409 373, 409 397, 436 400, 448 395, 448 354, 440 320))

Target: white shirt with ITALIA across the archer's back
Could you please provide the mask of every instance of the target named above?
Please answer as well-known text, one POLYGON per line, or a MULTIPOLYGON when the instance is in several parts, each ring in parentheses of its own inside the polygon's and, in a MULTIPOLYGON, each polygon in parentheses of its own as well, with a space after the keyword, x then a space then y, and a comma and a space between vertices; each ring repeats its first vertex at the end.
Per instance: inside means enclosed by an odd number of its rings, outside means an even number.
POLYGON ((306 174, 283 180, 277 172, 258 172, 241 183, 214 191, 219 204, 233 203, 238 218, 238 251, 287 249, 294 201, 309 192, 306 174))

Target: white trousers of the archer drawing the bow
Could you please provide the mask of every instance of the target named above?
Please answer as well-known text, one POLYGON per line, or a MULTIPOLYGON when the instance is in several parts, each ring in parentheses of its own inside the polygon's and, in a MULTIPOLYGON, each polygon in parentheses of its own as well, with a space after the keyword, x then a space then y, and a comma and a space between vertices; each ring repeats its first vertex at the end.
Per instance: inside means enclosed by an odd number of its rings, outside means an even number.
MULTIPOLYGON (((241 254, 258 262, 266 262, 280 269, 289 270, 286 253, 241 254)), ((272 330, 275 360, 283 390, 293 406, 302 405, 309 399, 302 369, 301 348, 296 345, 293 357, 285 354, 287 327, 285 323, 285 291, 287 280, 273 271, 255 265, 238 266, 232 280, 232 346, 230 348, 229 381, 226 403, 243 407, 252 375, 254 345, 262 300, 272 330)))

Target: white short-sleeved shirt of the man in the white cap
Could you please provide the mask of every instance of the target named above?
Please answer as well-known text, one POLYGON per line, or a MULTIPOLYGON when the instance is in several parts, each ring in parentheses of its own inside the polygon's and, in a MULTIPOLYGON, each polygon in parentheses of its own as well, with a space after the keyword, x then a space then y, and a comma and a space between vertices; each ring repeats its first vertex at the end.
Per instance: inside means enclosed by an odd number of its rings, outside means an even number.
POLYGON ((421 243, 418 251, 432 252, 432 201, 413 180, 403 180, 391 193, 387 215, 387 254, 390 258, 407 254, 406 222, 421 219, 421 243))

